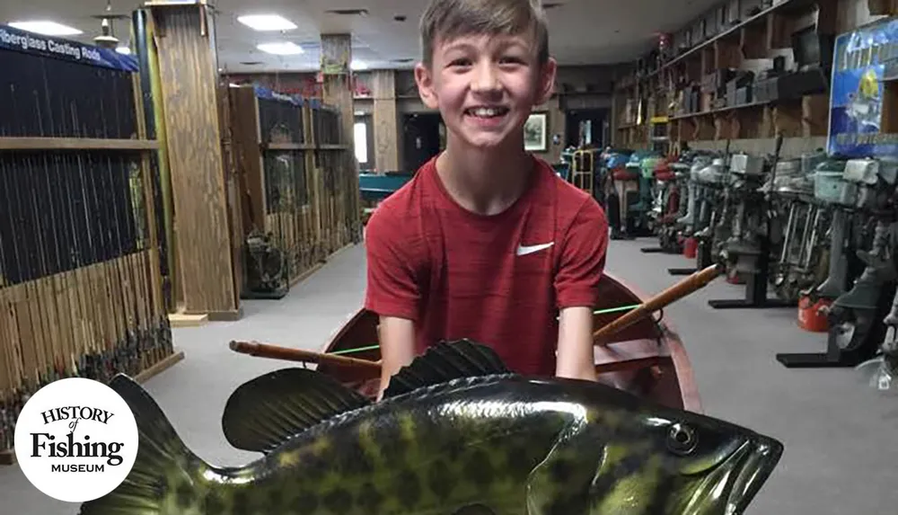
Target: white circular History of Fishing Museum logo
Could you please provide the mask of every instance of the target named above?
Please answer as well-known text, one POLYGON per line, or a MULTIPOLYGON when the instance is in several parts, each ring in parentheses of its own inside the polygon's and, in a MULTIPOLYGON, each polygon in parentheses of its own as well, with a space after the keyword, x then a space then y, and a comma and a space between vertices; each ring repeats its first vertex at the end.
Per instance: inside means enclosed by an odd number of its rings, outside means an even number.
POLYGON ((15 457, 41 492, 64 502, 92 501, 115 490, 134 466, 134 413, 99 381, 59 379, 22 407, 15 457))

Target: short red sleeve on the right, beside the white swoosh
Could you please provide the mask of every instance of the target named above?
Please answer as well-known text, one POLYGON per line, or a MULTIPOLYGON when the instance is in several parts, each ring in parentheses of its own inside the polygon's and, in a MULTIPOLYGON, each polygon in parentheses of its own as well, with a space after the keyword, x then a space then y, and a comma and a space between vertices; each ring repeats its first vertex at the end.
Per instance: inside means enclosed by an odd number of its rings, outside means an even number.
POLYGON ((593 307, 608 251, 608 218, 598 202, 585 200, 564 235, 555 291, 559 309, 593 307))

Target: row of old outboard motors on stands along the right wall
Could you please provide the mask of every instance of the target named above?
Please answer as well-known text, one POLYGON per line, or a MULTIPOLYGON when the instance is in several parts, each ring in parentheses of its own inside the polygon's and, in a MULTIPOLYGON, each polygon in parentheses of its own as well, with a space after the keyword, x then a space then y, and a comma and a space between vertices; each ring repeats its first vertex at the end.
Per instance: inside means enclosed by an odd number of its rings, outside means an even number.
MULTIPOLYGON (((781 138, 778 140, 781 146, 781 138)), ((659 162, 647 215, 658 247, 694 267, 726 264, 744 298, 715 309, 794 306, 797 325, 822 333, 818 353, 782 353, 788 368, 874 367, 888 387, 898 363, 898 157, 781 158, 688 151, 659 162)))

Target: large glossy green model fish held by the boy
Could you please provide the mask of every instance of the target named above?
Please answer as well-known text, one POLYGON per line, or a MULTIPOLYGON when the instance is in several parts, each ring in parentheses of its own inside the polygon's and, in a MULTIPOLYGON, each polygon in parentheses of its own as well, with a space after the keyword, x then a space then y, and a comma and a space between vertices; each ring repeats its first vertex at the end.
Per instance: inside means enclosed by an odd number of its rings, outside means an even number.
POLYGON ((140 386, 110 386, 140 448, 82 515, 737 515, 783 449, 611 386, 510 374, 467 341, 427 351, 379 403, 304 368, 247 382, 223 418, 265 453, 246 466, 204 463, 140 386))

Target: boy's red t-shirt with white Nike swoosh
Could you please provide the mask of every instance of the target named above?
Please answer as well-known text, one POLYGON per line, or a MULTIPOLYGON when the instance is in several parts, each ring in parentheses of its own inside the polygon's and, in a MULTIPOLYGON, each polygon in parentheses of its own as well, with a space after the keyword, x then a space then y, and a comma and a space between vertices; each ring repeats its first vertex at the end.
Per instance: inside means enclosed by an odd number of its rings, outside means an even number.
POLYGON ((500 214, 459 206, 436 158, 365 228, 365 308, 415 321, 418 353, 470 338, 523 374, 555 375, 558 310, 594 306, 608 245, 603 209, 534 157, 530 187, 500 214))

